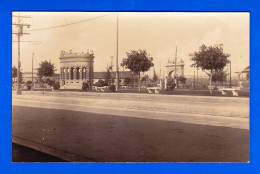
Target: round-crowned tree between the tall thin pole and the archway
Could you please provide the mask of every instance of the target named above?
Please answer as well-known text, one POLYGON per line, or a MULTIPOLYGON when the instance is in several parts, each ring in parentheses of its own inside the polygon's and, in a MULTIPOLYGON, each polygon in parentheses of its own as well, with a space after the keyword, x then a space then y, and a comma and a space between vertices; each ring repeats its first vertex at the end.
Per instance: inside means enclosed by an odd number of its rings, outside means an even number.
POLYGON ((138 75, 139 82, 139 92, 141 91, 141 72, 148 71, 153 64, 153 58, 146 52, 146 50, 132 50, 130 52, 126 52, 127 58, 123 59, 121 65, 130 69, 132 72, 138 75))

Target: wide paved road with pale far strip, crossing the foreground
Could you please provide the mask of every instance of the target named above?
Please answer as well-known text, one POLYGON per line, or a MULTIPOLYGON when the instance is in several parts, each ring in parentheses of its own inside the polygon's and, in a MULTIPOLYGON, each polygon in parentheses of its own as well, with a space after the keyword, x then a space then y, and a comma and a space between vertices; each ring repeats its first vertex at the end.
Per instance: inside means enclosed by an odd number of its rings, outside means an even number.
POLYGON ((248 117, 243 99, 13 95, 13 141, 67 161, 246 162, 248 117))

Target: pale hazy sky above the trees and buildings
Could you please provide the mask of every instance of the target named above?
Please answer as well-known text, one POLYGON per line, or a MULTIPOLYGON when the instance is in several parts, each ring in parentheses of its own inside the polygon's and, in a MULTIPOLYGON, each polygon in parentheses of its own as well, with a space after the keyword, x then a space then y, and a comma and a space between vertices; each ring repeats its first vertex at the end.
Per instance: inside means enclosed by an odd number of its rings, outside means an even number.
MULTIPOLYGON (((223 44, 224 52, 230 54, 232 73, 249 65, 250 15, 245 12, 20 12, 30 16, 22 23, 31 25, 24 28, 30 34, 21 37, 22 71, 31 71, 33 53, 34 67, 51 60, 59 73, 62 50, 88 49, 95 55, 94 71, 105 71, 111 60, 113 65, 116 61, 117 14, 119 65, 126 52, 145 49, 153 57, 155 71, 163 75, 168 60, 174 60, 177 47, 177 59, 185 63, 184 75, 192 75, 189 54, 202 44, 223 44)), ((17 32, 14 25, 13 32, 17 32)), ((17 66, 17 35, 13 34, 12 40, 12 65, 17 66)), ((152 71, 153 68, 148 74, 152 71)), ((199 74, 205 75, 202 71, 199 74)))

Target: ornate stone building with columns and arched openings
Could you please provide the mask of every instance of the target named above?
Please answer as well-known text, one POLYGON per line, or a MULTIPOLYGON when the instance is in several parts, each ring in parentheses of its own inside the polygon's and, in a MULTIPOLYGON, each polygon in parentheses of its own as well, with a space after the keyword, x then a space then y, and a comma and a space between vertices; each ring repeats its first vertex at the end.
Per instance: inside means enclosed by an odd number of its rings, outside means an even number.
POLYGON ((83 82, 90 89, 94 76, 94 53, 73 53, 61 51, 60 54, 60 87, 61 89, 81 89, 83 82))

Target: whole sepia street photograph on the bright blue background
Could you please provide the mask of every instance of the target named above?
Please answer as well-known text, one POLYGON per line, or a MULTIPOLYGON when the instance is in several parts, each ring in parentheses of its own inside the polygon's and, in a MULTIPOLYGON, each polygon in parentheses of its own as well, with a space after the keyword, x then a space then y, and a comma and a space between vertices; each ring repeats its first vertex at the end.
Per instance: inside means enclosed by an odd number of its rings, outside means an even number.
POLYGON ((249 12, 13 11, 11 49, 14 163, 250 162, 249 12))

